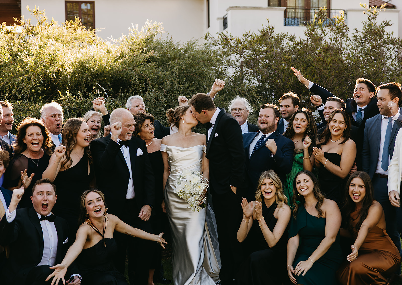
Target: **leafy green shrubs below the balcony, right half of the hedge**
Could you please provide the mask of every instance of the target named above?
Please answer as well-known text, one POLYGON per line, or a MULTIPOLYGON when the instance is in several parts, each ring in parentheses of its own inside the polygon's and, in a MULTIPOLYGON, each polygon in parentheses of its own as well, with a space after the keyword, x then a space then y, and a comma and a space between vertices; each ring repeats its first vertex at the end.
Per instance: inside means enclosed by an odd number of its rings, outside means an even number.
POLYGON ((324 7, 315 12, 304 39, 274 33, 269 23, 258 33, 233 37, 221 32, 217 38, 207 35, 206 39, 220 51, 220 70, 231 87, 251 99, 255 107, 265 102, 277 104, 289 91, 301 96, 302 106, 310 107, 311 93, 293 75, 291 66, 343 99, 352 97, 359 77, 375 85, 402 81, 402 43, 386 31, 392 25, 390 21, 377 23, 384 7, 362 6, 367 9, 367 20, 362 31, 355 29, 351 35, 344 14, 328 20, 324 7))

